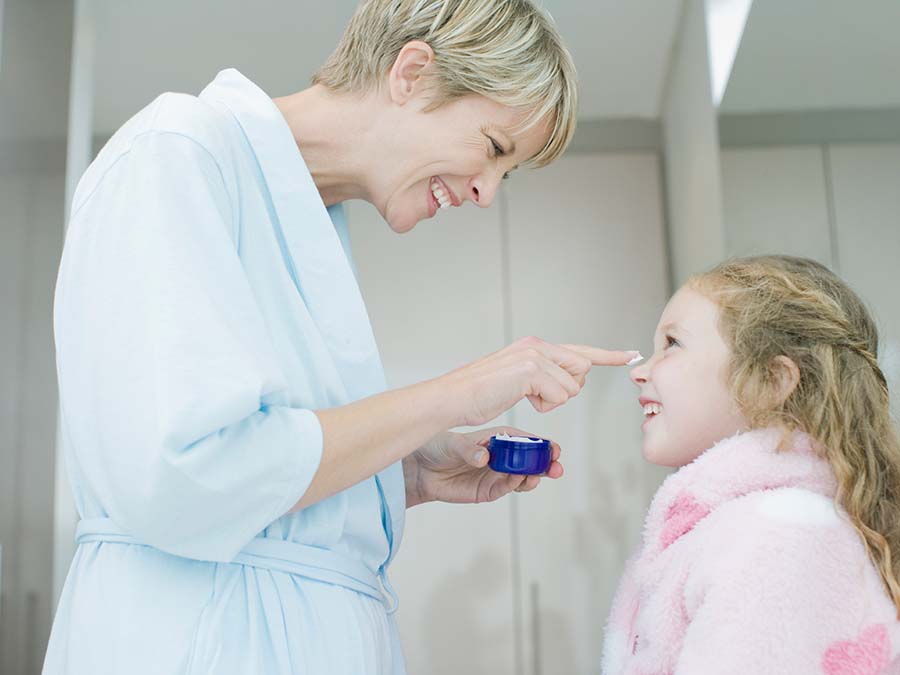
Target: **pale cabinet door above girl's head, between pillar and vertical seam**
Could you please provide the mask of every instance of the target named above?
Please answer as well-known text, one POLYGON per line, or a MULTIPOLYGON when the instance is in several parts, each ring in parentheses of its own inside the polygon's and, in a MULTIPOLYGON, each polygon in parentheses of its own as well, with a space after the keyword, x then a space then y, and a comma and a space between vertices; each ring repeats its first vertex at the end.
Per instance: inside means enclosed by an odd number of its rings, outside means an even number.
POLYGON ((724 150, 728 255, 785 253, 832 265, 820 147, 724 150))

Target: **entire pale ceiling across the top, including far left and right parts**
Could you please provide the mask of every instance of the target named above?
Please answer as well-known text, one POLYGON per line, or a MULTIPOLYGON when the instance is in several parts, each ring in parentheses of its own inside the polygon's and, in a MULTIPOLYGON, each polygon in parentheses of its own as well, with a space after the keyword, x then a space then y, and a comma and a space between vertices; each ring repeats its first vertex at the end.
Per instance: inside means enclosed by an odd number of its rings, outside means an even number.
MULTIPOLYGON (((684 0, 538 1, 575 58, 582 119, 659 117, 684 0)), ((95 132, 111 133, 163 91, 197 93, 227 67, 273 96, 301 89, 356 4, 256 0, 248 11, 246 0, 94 0, 86 6, 94 13, 95 132)), ((47 88, 68 88, 65 68, 54 67, 65 66, 70 49, 64 13, 55 0, 6 0, 5 15, 20 30, 3 36, 0 95, 11 121, 0 132, 58 138, 65 108, 26 104, 47 88), (59 39, 35 40, 38 33, 59 39)), ((900 107, 898 27, 900 0, 755 0, 722 111, 900 107)))

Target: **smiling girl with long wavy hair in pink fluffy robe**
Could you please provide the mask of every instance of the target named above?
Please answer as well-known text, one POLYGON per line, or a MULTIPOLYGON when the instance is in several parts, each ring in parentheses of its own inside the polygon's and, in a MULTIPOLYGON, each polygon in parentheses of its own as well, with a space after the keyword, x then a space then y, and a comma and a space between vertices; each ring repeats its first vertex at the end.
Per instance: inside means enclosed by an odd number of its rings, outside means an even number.
POLYGON ((606 675, 900 672, 900 440, 872 318, 811 260, 723 263, 632 371, 660 487, 606 675))

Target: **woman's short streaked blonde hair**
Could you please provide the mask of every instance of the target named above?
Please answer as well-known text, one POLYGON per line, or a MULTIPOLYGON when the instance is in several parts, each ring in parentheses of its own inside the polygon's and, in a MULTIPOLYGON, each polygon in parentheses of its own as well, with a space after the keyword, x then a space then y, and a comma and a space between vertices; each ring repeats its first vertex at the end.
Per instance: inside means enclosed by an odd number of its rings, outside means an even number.
POLYGON ((469 94, 521 109, 519 131, 542 120, 550 138, 530 159, 545 166, 575 131, 575 64, 550 19, 530 0, 363 0, 337 49, 313 77, 334 91, 377 87, 400 50, 421 40, 434 51, 429 109, 469 94))

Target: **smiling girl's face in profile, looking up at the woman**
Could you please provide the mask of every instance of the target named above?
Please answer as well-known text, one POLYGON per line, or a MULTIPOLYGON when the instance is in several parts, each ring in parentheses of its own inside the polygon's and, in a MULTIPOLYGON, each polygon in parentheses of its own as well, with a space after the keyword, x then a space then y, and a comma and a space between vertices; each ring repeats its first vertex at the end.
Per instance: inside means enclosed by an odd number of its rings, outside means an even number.
POLYGON ((718 330, 719 311, 684 287, 666 305, 653 357, 631 371, 644 408, 644 458, 688 464, 718 441, 747 428, 728 390, 731 357, 718 330))

